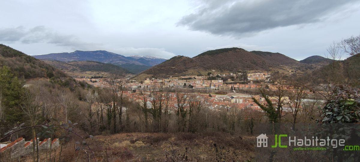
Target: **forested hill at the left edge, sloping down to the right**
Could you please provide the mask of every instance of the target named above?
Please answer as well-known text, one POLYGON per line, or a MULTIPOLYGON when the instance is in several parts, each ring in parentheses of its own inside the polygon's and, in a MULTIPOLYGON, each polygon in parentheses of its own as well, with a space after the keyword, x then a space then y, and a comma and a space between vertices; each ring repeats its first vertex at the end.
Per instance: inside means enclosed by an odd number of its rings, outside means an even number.
POLYGON ((0 44, 0 66, 9 67, 19 78, 67 77, 59 69, 3 44, 0 44))

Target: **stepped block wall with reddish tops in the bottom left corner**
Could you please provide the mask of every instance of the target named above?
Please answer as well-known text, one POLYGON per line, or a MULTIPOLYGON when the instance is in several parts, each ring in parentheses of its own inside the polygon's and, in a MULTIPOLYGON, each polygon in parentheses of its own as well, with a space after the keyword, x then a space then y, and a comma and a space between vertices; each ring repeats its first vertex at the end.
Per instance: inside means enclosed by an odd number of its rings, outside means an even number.
MULTIPOLYGON (((49 138, 43 141, 39 141, 39 138, 37 138, 37 141, 38 141, 37 148, 39 150, 55 149, 60 145, 59 139, 57 138, 55 138, 54 140, 51 140, 49 138)), ((33 142, 34 142, 33 140, 25 141, 25 139, 23 138, 18 138, 13 142, 1 143, 6 146, 0 149, 0 154, 2 154, 2 156, 10 156, 11 158, 26 156, 27 154, 33 152, 33 148, 32 148, 33 142)), ((35 150, 36 150, 36 146, 35 146, 35 150)))

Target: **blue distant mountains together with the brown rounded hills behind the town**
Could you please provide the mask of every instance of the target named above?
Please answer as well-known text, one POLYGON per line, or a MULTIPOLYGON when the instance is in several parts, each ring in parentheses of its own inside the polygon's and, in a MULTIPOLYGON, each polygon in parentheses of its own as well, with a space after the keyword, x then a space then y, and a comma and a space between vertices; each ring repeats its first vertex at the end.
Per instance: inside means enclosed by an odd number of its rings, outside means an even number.
MULTIPOLYGON (((193 58, 175 56, 171 59, 156 56, 131 55, 129 57, 104 51, 80 51, 71 53, 51 53, 35 55, 37 59, 57 60, 73 65, 76 62, 93 61, 117 65, 123 72, 153 76, 169 77, 180 75, 202 75, 205 71, 220 70, 236 72, 243 70, 260 71, 302 71, 313 70, 326 65, 330 59, 321 56, 311 56, 301 61, 287 57, 281 53, 266 51, 247 51, 241 48, 224 48, 209 50, 193 58)), ((53 66, 56 66, 54 62, 53 66)), ((57 63, 59 64, 59 63, 57 63)))

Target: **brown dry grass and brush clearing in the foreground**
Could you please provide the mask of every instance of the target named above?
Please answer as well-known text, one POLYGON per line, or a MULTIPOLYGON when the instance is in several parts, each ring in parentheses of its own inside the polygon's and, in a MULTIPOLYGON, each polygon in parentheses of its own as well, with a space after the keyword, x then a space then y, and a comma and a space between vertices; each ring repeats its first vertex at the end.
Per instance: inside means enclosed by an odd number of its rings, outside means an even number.
MULTIPOLYGON (((91 161, 252 161, 255 156, 255 137, 218 132, 121 133, 86 141, 94 154, 87 147, 75 151, 77 146, 69 142, 63 146, 61 161, 89 161, 89 156, 91 161)), ((44 153, 40 157, 45 161, 44 153)))

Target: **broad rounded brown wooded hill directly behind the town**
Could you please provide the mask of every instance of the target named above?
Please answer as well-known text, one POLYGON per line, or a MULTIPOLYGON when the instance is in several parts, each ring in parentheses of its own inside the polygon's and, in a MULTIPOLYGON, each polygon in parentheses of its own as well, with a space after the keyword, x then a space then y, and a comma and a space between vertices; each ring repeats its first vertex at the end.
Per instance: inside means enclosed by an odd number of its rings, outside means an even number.
POLYGON ((280 68, 283 71, 288 71, 288 68, 296 69, 300 67, 306 69, 307 65, 280 53, 249 52, 241 48, 224 48, 206 51, 193 58, 176 56, 144 71, 143 74, 166 77, 184 75, 188 71, 270 71, 270 69, 280 68))

